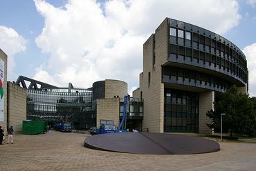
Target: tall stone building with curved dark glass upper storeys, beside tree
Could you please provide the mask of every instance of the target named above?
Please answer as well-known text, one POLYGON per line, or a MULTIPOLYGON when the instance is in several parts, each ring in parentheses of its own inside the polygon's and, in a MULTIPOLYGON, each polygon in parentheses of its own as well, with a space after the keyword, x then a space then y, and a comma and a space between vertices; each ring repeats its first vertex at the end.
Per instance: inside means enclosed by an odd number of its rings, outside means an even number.
POLYGON ((227 39, 190 23, 166 18, 143 45, 140 88, 143 129, 210 134, 205 113, 235 84, 248 90, 246 57, 227 39))

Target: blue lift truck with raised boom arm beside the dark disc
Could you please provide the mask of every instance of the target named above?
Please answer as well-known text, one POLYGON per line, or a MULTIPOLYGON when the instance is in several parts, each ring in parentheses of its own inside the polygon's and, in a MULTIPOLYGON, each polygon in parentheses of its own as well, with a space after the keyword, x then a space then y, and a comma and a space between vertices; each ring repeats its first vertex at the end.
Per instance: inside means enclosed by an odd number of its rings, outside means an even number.
POLYGON ((127 132, 127 130, 121 129, 122 126, 125 123, 125 117, 126 117, 126 108, 127 108, 127 99, 128 96, 125 95, 124 97, 124 111, 122 114, 122 121, 118 125, 118 128, 116 128, 116 125, 113 123, 113 120, 107 120, 107 119, 100 119, 100 128, 90 128, 89 133, 90 134, 106 134, 106 133, 116 133, 116 132, 127 132))

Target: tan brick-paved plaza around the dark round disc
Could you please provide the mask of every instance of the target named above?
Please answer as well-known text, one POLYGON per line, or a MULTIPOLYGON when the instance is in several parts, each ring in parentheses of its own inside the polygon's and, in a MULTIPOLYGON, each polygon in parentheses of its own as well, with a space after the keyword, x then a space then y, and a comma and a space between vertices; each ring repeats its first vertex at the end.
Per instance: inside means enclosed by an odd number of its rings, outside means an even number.
MULTIPOLYGON (((0 145, 0 170, 256 170, 256 143, 220 143, 208 154, 152 155, 84 148, 89 134, 50 131, 0 145)), ((104 141, 104 140, 102 140, 104 141)))

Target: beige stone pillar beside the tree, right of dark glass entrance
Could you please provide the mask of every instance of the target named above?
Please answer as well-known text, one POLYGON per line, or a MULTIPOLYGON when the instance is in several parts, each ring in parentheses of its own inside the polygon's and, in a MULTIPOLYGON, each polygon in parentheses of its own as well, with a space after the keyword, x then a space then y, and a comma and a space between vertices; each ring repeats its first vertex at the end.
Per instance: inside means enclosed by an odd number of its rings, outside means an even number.
POLYGON ((214 91, 199 93, 199 133, 211 134, 212 130, 208 128, 206 123, 211 123, 212 120, 206 116, 208 110, 214 110, 214 91))

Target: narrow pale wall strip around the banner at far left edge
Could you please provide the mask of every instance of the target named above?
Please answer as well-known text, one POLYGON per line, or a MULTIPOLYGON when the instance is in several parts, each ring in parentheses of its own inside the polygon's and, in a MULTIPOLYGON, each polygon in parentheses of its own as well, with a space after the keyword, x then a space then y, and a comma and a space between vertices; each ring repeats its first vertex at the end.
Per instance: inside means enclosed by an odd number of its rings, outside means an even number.
POLYGON ((4 112, 3 121, 0 121, 0 125, 4 130, 7 130, 7 55, 0 49, 0 58, 4 61, 4 83, 3 83, 3 101, 4 112))

